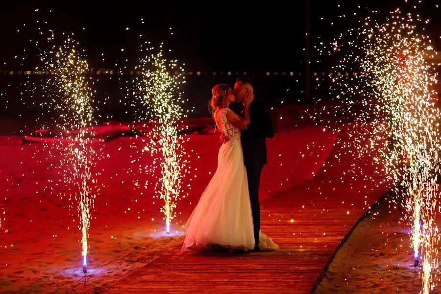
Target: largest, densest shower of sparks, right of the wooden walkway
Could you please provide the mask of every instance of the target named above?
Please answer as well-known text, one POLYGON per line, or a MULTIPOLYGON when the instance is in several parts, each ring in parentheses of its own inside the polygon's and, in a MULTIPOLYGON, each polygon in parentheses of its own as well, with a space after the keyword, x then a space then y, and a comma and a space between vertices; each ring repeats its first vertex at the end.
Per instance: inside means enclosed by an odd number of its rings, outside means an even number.
MULTIPOLYGON (((399 9, 384 24, 366 18, 362 27, 348 30, 350 41, 342 34, 333 42, 331 51, 343 58, 331 78, 336 99, 343 102, 336 108, 340 123, 354 122, 367 131, 369 138, 356 140, 355 147, 359 154, 373 153, 377 172, 386 174, 402 196, 396 201, 406 208, 427 294, 436 286, 438 270, 441 114, 434 104, 437 65, 431 60, 436 51, 427 36, 417 33, 422 22, 399 9)), ((329 114, 327 109, 322 113, 329 114)))

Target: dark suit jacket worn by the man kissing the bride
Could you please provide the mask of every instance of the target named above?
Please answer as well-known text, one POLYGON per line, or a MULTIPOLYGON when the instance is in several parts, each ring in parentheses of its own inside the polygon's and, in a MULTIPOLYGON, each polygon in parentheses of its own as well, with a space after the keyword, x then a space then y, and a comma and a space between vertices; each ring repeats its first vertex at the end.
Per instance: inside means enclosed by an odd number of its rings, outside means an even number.
MULTIPOLYGON (((242 102, 231 102, 229 108, 244 118, 245 106, 242 102)), ((274 124, 270 111, 254 98, 249 104, 250 123, 246 130, 241 130, 242 148, 245 166, 261 167, 268 163, 266 138, 274 137, 274 124)))

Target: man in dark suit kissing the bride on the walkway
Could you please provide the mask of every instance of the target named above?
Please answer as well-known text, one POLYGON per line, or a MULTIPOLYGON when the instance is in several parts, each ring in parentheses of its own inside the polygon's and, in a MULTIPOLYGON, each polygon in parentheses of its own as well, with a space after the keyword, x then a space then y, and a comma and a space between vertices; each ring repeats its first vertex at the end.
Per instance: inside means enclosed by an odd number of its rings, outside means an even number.
MULTIPOLYGON (((247 93, 253 92, 253 85, 247 77, 241 77, 234 84, 236 102, 230 103, 230 109, 240 117, 244 117, 244 98, 247 93)), ((254 250, 259 251, 260 231, 260 204, 259 185, 260 174, 263 166, 267 164, 266 138, 274 137, 274 126, 269 110, 258 98, 254 98, 249 104, 250 123, 245 130, 241 130, 242 148, 244 150, 244 164, 248 176, 249 199, 254 223, 254 250)), ((240 127, 241 122, 233 123, 240 127)), ((221 142, 229 141, 228 137, 221 135, 221 142)))

